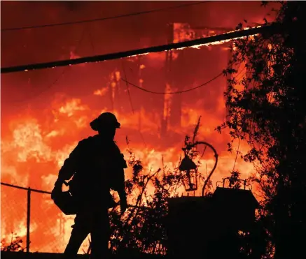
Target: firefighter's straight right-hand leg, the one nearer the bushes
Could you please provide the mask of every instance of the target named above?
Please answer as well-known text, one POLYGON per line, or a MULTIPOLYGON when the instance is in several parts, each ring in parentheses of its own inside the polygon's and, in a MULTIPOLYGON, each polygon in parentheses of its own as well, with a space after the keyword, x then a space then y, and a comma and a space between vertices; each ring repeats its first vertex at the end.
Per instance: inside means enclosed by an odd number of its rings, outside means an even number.
POLYGON ((90 232, 92 239, 91 259, 109 258, 109 211, 104 209, 95 215, 90 232))

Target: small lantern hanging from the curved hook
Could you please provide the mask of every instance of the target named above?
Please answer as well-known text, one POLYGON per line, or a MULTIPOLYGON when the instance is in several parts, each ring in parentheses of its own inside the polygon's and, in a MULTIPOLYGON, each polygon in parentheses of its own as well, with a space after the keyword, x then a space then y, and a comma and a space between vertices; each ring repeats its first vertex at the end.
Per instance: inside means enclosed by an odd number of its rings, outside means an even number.
POLYGON ((197 190, 197 165, 185 154, 179 165, 186 191, 197 190))

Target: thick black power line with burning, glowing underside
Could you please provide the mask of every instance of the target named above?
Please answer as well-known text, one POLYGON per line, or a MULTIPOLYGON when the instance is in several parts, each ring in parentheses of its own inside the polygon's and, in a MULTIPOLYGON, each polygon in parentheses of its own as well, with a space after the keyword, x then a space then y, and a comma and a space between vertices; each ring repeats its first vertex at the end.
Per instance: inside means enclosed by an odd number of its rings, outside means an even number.
POLYGON ((153 52, 163 52, 167 50, 176 50, 176 49, 183 49, 185 47, 201 47, 204 45, 210 44, 218 44, 224 43, 230 40, 235 40, 237 38, 243 38, 246 36, 256 35, 256 34, 264 34, 267 32, 273 31, 273 33, 279 29, 279 24, 271 24, 265 25, 263 27, 255 27, 251 29, 242 29, 239 31, 232 31, 225 34, 219 34, 216 36, 205 37, 205 38, 198 38, 195 40, 186 40, 180 43, 170 43, 166 45, 159 45, 154 47, 146 47, 143 49, 138 50, 128 50, 125 52, 116 52, 111 54, 103 54, 103 55, 96 55, 92 57, 81 57, 78 59, 67 59, 61 61, 52 61, 47 63, 41 64, 28 64, 24 66, 13 66, 7 68, 1 68, 1 73, 13 73, 13 72, 20 72, 20 71, 30 71, 35 69, 45 69, 45 68, 55 68, 57 66, 72 66, 76 64, 83 64, 83 63, 93 63, 93 62, 101 62, 107 61, 112 59, 122 59, 126 57, 133 57, 153 52))

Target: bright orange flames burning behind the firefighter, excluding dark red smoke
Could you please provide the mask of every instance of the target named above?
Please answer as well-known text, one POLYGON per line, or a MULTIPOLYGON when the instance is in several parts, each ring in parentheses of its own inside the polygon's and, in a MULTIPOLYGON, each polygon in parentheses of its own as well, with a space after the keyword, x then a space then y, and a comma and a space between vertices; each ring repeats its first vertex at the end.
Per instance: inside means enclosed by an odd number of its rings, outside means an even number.
MULTIPOLYGON (((223 42, 214 44, 221 43, 223 42)), ((149 55, 148 57, 160 59, 164 56, 165 53, 162 52, 162 55, 149 55)), ((140 69, 144 68, 144 65, 140 66, 140 69)), ((141 83, 144 82, 142 78, 141 80, 141 83)), ((120 72, 114 71, 109 81, 111 87, 91 91, 92 95, 101 96, 101 98, 106 97, 107 91, 118 87, 120 72)), ((218 86, 216 85, 216 87, 218 86)), ((166 91, 170 91, 172 88, 172 85, 167 84, 166 91)), ((115 91, 112 92, 113 98, 116 98, 114 93, 115 91)), ((169 135, 171 137, 175 136, 175 141, 171 145, 168 145, 167 139, 160 142, 158 136, 160 135, 162 119, 166 119, 173 112, 172 101, 174 101, 174 96, 166 94, 162 97, 160 105, 164 104, 164 108, 160 110, 145 109, 143 106, 135 109, 134 112, 113 110, 122 125, 122 129, 118 130, 116 140, 118 140, 118 145, 125 158, 129 157, 125 150, 125 136, 128 135, 130 138, 130 135, 132 135, 130 147, 132 147, 135 156, 141 159, 146 172, 156 171, 163 165, 166 165, 170 170, 174 170, 182 154, 183 138, 186 134, 191 135, 193 133, 195 123, 202 115, 202 126, 198 138, 211 142, 219 153, 218 167, 211 179, 215 187, 216 181, 228 176, 228 173, 232 170, 233 161, 235 161, 235 154, 228 154, 226 151, 228 135, 219 135, 214 131, 214 126, 221 124, 225 116, 222 91, 216 97, 217 104, 214 112, 204 108, 204 98, 195 98, 192 102, 182 105, 181 127, 169 125, 168 128, 169 135), (141 138, 139 132, 144 135, 146 141, 141 138), (146 142, 145 145, 144 142, 146 142), (165 162, 164 164, 162 164, 162 160, 165 162)), ((137 100, 139 98, 141 97, 137 96, 134 100, 139 101, 137 100)), ((144 103, 144 100, 142 100, 142 103, 144 103)), ((43 114, 41 118, 33 115, 22 117, 22 119, 11 119, 11 131, 3 133, 4 137, 1 140, 1 181, 51 191, 64 159, 69 156, 79 140, 93 134, 89 128, 89 123, 99 113, 107 111, 106 106, 91 110, 90 103, 83 103, 81 98, 60 96, 55 98, 46 112, 41 112, 43 114)), ((246 151, 246 143, 241 142, 239 149, 240 151, 246 151)), ((212 153, 207 151, 200 162, 202 165, 200 172, 206 175, 207 171, 209 172, 214 165, 212 153)), ((235 168, 242 172, 242 178, 253 173, 253 166, 244 163, 239 158, 235 168)), ((131 175, 132 169, 128 168, 126 178, 128 179, 131 175)), ((148 193, 153 191, 153 186, 149 186, 148 193)), ((179 191, 180 194, 183 193, 183 190, 179 191)), ((7 198, 1 206, 4 207, 4 209, 1 209, 1 216, 4 219, 2 221, 4 223, 3 228, 1 228, 1 237, 5 238, 8 238, 11 231, 18 232, 18 235, 25 237, 26 191, 22 191, 18 196, 16 195, 16 197, 20 197, 20 200, 16 200, 17 203, 13 206, 13 209, 9 210, 7 208, 12 206, 6 202, 10 200, 8 196, 14 193, 15 190, 12 188, 1 188, 1 199, 7 198), (8 223, 11 219, 15 219, 17 223, 8 223)), ((196 195, 200 195, 200 190, 196 195)), ((38 251, 62 252, 69 239, 73 219, 62 216, 48 195, 34 193, 33 199, 36 199, 36 202, 32 202, 31 248, 33 251, 36 249, 38 251), (53 242, 51 247, 50 242, 53 242)), ((129 199, 129 202, 133 202, 132 198, 129 199)), ((87 244, 84 244, 83 247, 86 246, 87 244)))

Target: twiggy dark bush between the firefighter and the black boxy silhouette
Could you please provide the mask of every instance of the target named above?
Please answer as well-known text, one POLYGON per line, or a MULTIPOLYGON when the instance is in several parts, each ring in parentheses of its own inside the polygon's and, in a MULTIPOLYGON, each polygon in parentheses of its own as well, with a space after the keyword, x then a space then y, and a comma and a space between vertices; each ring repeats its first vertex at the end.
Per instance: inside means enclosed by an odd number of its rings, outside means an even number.
POLYGON ((141 253, 164 254, 167 247, 165 220, 167 216, 167 198, 174 197, 181 186, 181 174, 166 166, 155 172, 146 172, 139 159, 130 149, 129 164, 133 168, 132 179, 125 182, 127 195, 133 197, 134 205, 120 217, 117 209, 111 217, 111 249, 129 250, 141 253), (153 189, 149 192, 148 188, 153 189))

